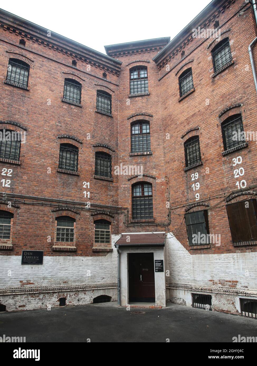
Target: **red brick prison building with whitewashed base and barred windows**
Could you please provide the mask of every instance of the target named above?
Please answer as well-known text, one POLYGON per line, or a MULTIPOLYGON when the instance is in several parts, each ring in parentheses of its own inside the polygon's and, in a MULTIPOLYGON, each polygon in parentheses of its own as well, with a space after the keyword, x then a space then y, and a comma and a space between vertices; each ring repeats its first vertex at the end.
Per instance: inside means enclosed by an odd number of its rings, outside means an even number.
POLYGON ((2 307, 118 287, 121 305, 256 317, 252 4, 213 0, 172 41, 106 55, 0 23, 2 307))

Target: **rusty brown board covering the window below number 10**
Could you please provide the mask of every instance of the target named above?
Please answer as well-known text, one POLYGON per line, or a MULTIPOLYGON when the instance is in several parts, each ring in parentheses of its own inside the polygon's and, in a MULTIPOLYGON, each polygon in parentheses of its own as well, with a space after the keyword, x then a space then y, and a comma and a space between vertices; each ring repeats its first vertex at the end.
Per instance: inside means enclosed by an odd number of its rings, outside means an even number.
POLYGON ((231 203, 226 208, 232 242, 257 240, 256 199, 231 203))

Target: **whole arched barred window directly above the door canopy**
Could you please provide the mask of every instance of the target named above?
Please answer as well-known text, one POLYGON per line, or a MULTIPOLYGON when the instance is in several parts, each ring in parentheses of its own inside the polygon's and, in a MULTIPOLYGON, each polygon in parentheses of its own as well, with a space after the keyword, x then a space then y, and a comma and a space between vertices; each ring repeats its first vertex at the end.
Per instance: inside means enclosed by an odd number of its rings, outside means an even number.
POLYGON ((132 186, 132 219, 153 219, 153 191, 150 183, 132 186))

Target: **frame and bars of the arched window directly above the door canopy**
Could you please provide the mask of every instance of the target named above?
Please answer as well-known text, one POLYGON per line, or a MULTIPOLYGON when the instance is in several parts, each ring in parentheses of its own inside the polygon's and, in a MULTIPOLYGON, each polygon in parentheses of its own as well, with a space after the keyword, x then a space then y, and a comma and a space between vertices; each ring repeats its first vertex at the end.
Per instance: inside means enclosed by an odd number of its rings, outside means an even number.
MULTIPOLYGON (((150 220, 154 218, 154 212, 153 212, 153 184, 149 183, 149 182, 136 182, 134 184, 132 184, 132 220, 150 220), (144 186, 151 186, 151 195, 145 195, 144 194, 144 186), (134 195, 134 187, 136 186, 140 186, 141 187, 141 194, 140 195, 134 195), (142 203, 143 203, 143 207, 145 208, 145 202, 146 202, 146 198, 148 200, 148 210, 144 209, 141 210, 142 207, 142 203), (137 210, 138 207, 138 199, 139 199, 139 207, 140 210, 137 210), (143 198, 143 199, 142 199, 143 198), (150 199, 149 199, 150 198, 150 199), (137 199, 137 200, 136 200, 137 199), (134 209, 133 209, 134 206, 134 209), (136 209, 136 210, 135 210, 136 209), (140 217, 138 217, 139 215, 137 214, 137 212, 140 212, 140 217)), ((149 189, 149 188, 148 188, 149 189)))

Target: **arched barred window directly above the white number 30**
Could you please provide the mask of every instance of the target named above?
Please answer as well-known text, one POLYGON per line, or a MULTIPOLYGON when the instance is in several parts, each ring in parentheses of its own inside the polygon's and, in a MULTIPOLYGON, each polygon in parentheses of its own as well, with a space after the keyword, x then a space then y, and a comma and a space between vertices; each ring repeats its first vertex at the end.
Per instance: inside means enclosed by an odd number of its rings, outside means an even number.
POLYGON ((221 124, 224 150, 232 149, 233 147, 242 145, 245 142, 243 132, 243 122, 241 114, 236 114, 228 117, 221 124))

